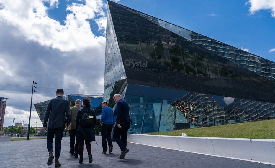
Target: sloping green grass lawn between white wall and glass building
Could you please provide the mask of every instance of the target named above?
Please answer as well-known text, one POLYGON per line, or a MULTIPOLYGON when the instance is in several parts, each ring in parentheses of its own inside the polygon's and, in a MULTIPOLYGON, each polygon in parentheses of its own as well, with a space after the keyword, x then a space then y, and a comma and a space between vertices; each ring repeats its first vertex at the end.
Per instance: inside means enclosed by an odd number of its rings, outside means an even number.
POLYGON ((183 132, 189 137, 275 139, 275 119, 145 134, 181 136, 183 132))

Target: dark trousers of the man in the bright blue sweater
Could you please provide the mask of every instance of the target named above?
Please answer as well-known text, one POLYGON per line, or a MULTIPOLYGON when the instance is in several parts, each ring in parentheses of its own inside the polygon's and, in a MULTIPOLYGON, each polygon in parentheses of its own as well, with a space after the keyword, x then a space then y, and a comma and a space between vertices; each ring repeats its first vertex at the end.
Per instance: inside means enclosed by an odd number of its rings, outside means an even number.
POLYGON ((113 142, 112 142, 112 138, 111 138, 112 129, 113 129, 113 125, 111 125, 111 124, 103 124, 103 126, 102 126, 101 137, 102 137, 102 149, 103 149, 103 152, 107 151, 107 142, 106 142, 106 139, 108 141, 109 148, 113 147, 113 142))

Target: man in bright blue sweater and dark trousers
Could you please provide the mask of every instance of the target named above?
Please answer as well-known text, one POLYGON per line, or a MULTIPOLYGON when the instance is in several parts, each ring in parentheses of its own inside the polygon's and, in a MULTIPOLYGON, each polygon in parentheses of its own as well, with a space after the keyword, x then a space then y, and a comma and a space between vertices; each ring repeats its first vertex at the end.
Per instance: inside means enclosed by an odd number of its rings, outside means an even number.
POLYGON ((101 103, 102 111, 101 111, 101 119, 100 125, 102 126, 101 137, 102 137, 102 154, 106 154, 107 151, 107 142, 109 146, 109 153, 113 151, 113 143, 111 138, 111 132, 114 128, 114 112, 112 108, 108 107, 108 103, 103 101, 101 103))

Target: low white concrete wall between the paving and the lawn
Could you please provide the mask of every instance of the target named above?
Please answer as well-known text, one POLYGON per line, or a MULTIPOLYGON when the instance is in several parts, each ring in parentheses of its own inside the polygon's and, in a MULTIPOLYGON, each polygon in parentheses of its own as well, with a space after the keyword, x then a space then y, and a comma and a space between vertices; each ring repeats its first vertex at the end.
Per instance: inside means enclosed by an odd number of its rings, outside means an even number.
POLYGON ((275 163, 275 139, 128 134, 127 141, 189 152, 275 163))

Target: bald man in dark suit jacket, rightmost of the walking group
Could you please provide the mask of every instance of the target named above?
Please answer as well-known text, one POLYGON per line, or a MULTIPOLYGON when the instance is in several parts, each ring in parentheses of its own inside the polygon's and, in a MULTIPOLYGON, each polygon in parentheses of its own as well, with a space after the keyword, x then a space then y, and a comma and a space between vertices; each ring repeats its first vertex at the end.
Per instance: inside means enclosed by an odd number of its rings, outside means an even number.
POLYGON ((114 110, 115 127, 113 138, 120 147, 121 154, 118 158, 124 159, 129 149, 127 149, 127 132, 131 126, 132 119, 129 115, 129 106, 121 99, 120 94, 114 95, 114 101, 117 103, 114 110), (121 139, 120 139, 121 136, 121 139))

